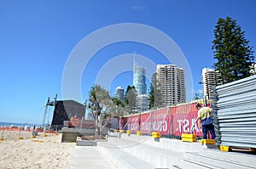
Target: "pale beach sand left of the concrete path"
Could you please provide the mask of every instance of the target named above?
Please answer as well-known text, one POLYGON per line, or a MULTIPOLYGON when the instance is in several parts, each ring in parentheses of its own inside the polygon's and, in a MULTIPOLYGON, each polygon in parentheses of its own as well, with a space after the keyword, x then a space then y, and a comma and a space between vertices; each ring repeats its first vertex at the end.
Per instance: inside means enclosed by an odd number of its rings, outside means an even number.
MULTIPOLYGON (((2 131, 0 131, 2 132, 2 131)), ((0 141, 0 169, 11 168, 69 168, 74 143, 61 143, 61 134, 5 131, 0 141), (18 139, 18 138, 24 139, 18 139)), ((0 134, 0 137, 2 133, 0 134)))

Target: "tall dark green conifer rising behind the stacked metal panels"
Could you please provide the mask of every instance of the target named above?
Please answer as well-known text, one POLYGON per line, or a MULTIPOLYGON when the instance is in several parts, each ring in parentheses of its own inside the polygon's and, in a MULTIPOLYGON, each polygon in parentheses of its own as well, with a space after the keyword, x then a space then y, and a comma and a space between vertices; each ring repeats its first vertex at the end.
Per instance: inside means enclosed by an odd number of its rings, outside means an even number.
POLYGON ((212 49, 214 59, 217 59, 213 67, 219 74, 216 77, 217 83, 234 82, 250 76, 254 59, 253 48, 248 45, 245 32, 241 31, 236 20, 230 17, 219 18, 213 32, 215 38, 212 49))

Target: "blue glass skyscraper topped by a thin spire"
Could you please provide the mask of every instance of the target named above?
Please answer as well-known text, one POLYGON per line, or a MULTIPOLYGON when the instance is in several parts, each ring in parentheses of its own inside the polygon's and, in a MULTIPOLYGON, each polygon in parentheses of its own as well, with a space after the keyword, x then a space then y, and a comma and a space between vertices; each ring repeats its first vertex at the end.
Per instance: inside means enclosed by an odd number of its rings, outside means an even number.
POLYGON ((137 95, 147 93, 146 70, 136 64, 133 65, 133 86, 137 90, 137 95))

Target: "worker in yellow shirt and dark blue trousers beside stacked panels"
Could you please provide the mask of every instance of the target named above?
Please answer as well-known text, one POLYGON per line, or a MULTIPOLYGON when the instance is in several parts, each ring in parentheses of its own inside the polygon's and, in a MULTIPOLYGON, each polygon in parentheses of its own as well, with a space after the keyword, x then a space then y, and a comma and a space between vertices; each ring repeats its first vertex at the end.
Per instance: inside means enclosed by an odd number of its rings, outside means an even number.
POLYGON ((212 121, 212 109, 208 107, 202 107, 201 104, 196 104, 196 109, 198 110, 198 119, 201 121, 199 123, 203 132, 203 139, 207 139, 208 131, 211 133, 212 139, 215 139, 214 126, 212 121))

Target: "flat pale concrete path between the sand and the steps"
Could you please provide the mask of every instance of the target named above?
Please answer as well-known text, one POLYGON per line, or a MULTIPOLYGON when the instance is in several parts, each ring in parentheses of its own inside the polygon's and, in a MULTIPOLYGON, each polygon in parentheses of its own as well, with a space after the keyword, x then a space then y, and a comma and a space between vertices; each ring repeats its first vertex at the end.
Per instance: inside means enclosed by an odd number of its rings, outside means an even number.
POLYGON ((104 157, 96 147, 77 146, 73 152, 71 169, 116 169, 108 157, 104 157))

